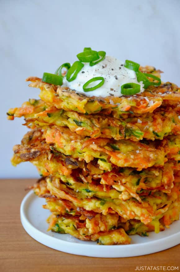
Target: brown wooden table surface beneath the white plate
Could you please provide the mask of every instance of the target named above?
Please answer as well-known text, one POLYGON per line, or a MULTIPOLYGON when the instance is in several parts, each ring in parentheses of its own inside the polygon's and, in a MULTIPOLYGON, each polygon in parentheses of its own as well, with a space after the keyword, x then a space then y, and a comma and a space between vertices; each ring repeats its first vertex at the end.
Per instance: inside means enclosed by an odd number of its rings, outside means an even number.
POLYGON ((26 194, 24 188, 34 182, 33 179, 0 180, 1 272, 130 272, 136 271, 137 266, 139 269, 140 266, 155 266, 156 270, 159 267, 159 271, 164 269, 160 266, 166 269, 168 266, 179 266, 180 270, 180 245, 150 255, 105 259, 56 251, 35 241, 25 232, 20 222, 20 203, 26 194))

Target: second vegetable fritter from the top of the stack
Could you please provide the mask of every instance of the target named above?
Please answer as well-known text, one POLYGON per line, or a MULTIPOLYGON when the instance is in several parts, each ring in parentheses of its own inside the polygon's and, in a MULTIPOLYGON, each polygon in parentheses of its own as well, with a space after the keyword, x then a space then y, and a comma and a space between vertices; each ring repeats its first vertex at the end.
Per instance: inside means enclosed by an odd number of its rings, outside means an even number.
MULTIPOLYGON (((114 138, 115 140, 130 139, 139 141, 162 140, 164 136, 180 135, 180 107, 177 105, 160 107, 153 113, 134 116, 129 113, 127 118, 119 113, 116 118, 110 115, 84 115, 72 111, 64 111, 50 107, 42 100, 29 99, 22 107, 10 109, 8 117, 25 117, 25 125, 69 127, 79 135, 91 138, 114 138)), ((126 114, 124 114, 126 115, 126 114)))

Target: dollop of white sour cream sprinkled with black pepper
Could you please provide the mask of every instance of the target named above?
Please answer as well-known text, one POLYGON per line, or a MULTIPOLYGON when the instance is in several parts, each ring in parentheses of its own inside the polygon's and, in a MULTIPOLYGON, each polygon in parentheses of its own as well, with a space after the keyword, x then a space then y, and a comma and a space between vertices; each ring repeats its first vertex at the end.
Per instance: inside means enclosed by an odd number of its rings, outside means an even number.
MULTIPOLYGON (((88 88, 97 85, 99 82, 100 81, 92 82, 88 85, 88 88)), ((87 96, 122 96, 121 86, 125 83, 137 83, 141 86, 140 93, 144 91, 144 84, 142 81, 137 81, 136 73, 133 70, 124 67, 124 63, 118 59, 106 56, 104 60, 94 66, 90 66, 89 63, 84 63, 84 67, 79 71, 73 81, 68 82, 66 77, 64 77, 62 87, 67 86, 71 90, 75 90, 87 96), (104 77, 104 84, 96 90, 84 92, 83 85, 88 80, 97 76, 104 77)))

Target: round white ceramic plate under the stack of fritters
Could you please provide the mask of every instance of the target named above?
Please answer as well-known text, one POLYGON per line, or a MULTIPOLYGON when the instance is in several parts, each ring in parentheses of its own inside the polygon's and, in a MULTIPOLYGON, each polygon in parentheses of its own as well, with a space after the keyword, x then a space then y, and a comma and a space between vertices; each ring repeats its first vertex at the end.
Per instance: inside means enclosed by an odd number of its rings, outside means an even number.
POLYGON ((133 257, 155 253, 180 243, 180 221, 174 222, 169 229, 158 234, 149 233, 149 237, 132 235, 130 245, 103 246, 92 241, 80 241, 69 234, 47 232, 46 219, 50 211, 43 209, 43 204, 45 200, 30 191, 20 207, 22 225, 35 240, 59 251, 102 258, 133 257))

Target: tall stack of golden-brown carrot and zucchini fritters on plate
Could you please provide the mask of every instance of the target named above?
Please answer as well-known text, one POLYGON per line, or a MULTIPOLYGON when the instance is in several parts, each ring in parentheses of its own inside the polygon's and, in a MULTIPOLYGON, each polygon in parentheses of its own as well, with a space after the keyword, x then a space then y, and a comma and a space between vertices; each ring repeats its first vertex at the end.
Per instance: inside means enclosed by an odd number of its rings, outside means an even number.
MULTIPOLYGON (((160 77, 153 67, 140 71, 160 77)), ((30 77, 40 100, 10 109, 30 131, 12 164, 32 162, 33 189, 51 211, 49 230, 98 244, 129 244, 179 219, 180 89, 150 85, 121 97, 89 97, 30 77)))

